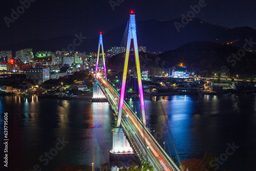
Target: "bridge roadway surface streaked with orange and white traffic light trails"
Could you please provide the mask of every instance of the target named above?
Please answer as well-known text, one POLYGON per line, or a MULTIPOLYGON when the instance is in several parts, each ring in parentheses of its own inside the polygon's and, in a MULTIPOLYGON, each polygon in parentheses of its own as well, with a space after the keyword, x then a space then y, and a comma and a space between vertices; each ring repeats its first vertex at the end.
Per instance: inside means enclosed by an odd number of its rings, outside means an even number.
MULTIPOLYGON (((97 77, 98 83, 103 88, 105 95, 108 97, 110 103, 112 103, 111 105, 113 106, 114 111, 117 113, 119 104, 119 93, 114 90, 110 83, 105 81, 102 76, 98 75, 97 77)), ((133 138, 139 146, 140 150, 142 151, 143 156, 145 156, 147 161, 151 163, 153 168, 155 168, 156 170, 172 170, 167 166, 166 162, 157 152, 157 149, 155 149, 151 141, 145 136, 143 130, 136 122, 133 112, 126 103, 124 103, 123 105, 122 115, 123 116, 121 124, 125 126, 126 129, 130 131, 130 133, 132 133, 133 138)), ((174 170, 180 171, 179 167, 174 170)))

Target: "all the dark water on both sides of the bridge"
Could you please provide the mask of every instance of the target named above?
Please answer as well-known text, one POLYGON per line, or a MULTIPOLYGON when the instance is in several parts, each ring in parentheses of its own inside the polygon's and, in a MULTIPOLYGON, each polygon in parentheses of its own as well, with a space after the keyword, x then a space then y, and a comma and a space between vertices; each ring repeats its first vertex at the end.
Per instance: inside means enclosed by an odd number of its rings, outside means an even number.
MULTIPOLYGON (((42 170, 52 170, 62 164, 94 163, 99 167, 109 160, 113 111, 108 103, 36 96, 28 99, 2 96, 0 99, 0 154, 4 147, 3 117, 4 112, 8 112, 9 170, 29 170, 36 164, 42 170), (39 157, 55 148, 57 138, 69 142, 45 166, 46 162, 41 162, 39 157)), ((129 103, 139 111, 138 101, 129 103)), ((160 144, 166 141, 166 151, 172 156, 176 154, 170 134, 163 126, 166 120, 181 160, 201 158, 205 151, 220 157, 226 153, 227 143, 234 143, 239 148, 220 165, 220 170, 256 167, 255 95, 203 96, 202 99, 188 95, 147 97, 145 107, 147 124, 156 130, 160 144)))

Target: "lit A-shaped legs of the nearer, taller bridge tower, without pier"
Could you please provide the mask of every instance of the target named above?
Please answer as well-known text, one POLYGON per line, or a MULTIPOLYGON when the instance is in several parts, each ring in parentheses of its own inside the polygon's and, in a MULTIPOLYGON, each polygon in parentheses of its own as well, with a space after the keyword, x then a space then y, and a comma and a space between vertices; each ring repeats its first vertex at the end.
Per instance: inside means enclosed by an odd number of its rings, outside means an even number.
POLYGON ((128 28, 129 30, 128 30, 128 37, 127 37, 127 43, 126 43, 126 50, 125 50, 123 78, 122 78, 120 100, 119 100, 119 106, 118 106, 118 117, 117 117, 117 125, 116 125, 117 127, 119 127, 121 124, 123 100, 124 100, 124 93, 125 93, 125 83, 126 83, 129 55, 130 55, 130 49, 131 49, 131 41, 133 41, 133 46, 134 46, 133 49, 134 49, 136 68, 137 68, 141 121, 143 122, 144 125, 146 125, 145 106, 144 106, 144 97, 143 97, 141 72, 140 72, 140 60, 139 60, 139 51, 138 51, 138 42, 137 42, 137 33, 136 33, 136 22, 135 22, 135 14, 133 13, 133 11, 130 14, 128 28))

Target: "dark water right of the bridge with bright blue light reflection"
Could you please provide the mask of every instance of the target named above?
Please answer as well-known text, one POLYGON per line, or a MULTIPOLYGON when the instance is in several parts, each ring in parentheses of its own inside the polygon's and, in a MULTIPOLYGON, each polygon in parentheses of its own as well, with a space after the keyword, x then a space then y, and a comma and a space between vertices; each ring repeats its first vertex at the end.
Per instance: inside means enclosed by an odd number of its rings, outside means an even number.
MULTIPOLYGON (((181 160, 202 158, 205 151, 213 157, 225 153, 227 143, 240 148, 220 168, 227 170, 252 169, 256 147, 255 95, 174 95, 146 97, 147 124, 161 132, 165 123, 163 110, 173 134, 181 160)), ((139 111, 139 101, 130 102, 139 111)), ((138 114, 140 117, 140 114, 138 114)), ((167 153, 176 156, 169 133, 157 134, 159 143, 168 142, 167 153)))

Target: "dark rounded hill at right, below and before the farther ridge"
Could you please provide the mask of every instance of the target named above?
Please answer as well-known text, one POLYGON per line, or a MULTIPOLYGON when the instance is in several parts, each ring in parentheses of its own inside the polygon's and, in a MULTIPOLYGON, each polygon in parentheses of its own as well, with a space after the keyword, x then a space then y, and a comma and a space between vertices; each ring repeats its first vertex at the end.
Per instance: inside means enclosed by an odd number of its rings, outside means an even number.
MULTIPOLYGON (((214 42, 190 42, 176 50, 165 51, 158 55, 159 65, 165 68, 184 63, 189 70, 197 69, 211 72, 230 72, 232 75, 252 76, 256 72, 256 53, 245 52, 242 57, 238 53, 242 49, 214 42)), ((241 51, 242 52, 242 51, 241 51)))

